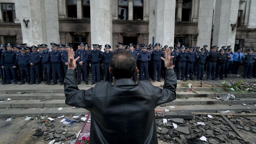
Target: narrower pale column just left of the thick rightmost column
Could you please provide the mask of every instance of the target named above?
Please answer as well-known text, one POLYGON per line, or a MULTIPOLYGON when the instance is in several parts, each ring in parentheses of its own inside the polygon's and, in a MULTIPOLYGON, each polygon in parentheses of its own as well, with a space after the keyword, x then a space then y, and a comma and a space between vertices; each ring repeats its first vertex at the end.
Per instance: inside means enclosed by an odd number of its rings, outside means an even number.
MULTIPOLYGON (((198 15, 198 36, 196 46, 203 47, 208 45, 211 47, 211 32, 212 32, 212 16, 213 16, 213 0, 199 1, 198 15)), ((209 50, 209 49, 208 49, 209 50)))

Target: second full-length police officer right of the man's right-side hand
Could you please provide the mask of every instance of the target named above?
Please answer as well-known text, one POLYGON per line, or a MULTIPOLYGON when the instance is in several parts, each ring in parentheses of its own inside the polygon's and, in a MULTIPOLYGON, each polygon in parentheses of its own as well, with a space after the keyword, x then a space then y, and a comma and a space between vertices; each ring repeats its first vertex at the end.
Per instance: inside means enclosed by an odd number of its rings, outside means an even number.
POLYGON ((185 73, 186 80, 188 80, 188 74, 189 74, 190 80, 194 80, 193 79, 193 67, 194 67, 194 63, 196 61, 197 55, 195 54, 195 52, 193 52, 193 49, 194 48, 191 47, 189 49, 189 52, 186 55, 186 73, 185 73))

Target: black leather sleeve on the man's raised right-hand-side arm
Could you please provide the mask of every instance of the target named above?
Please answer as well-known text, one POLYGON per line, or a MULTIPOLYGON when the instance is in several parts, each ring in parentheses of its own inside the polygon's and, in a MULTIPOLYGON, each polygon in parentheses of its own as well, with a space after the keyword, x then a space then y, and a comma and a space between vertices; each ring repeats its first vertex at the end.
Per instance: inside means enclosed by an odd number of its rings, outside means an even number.
POLYGON ((156 106, 163 103, 171 102, 176 99, 177 79, 175 77, 174 69, 166 70, 166 79, 164 80, 163 89, 154 86, 153 93, 156 100, 156 106))

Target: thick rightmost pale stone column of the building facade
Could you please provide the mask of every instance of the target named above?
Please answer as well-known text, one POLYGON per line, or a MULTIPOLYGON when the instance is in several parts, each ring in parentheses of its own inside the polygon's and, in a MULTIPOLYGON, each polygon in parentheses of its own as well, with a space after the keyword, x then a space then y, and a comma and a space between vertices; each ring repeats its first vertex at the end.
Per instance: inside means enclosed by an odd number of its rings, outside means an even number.
POLYGON ((239 0, 216 0, 212 45, 231 45, 234 50, 239 0))

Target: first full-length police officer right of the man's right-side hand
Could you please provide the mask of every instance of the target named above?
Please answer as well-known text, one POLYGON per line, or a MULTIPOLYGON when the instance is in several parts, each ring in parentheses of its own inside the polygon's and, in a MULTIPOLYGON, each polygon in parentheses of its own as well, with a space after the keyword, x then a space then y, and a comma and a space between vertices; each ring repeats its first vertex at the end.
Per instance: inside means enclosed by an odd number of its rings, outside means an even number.
MULTIPOLYGON (((176 48, 177 49, 177 48, 176 48)), ((179 55, 176 56, 177 61, 177 81, 183 80, 186 81, 185 78, 185 67, 186 67, 186 55, 187 52, 185 52, 185 46, 181 46, 181 51, 179 52, 179 55), (181 70, 181 79, 180 79, 180 70, 181 70)))

